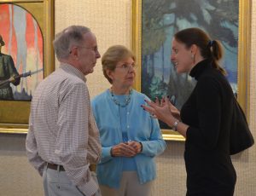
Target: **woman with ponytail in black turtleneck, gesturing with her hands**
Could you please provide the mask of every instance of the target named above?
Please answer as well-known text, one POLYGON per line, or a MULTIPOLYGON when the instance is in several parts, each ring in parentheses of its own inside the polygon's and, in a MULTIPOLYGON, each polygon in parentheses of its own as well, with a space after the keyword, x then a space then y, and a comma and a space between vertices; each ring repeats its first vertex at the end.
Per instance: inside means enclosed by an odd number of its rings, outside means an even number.
POLYGON ((236 171, 230 159, 233 92, 218 61, 221 44, 198 28, 184 29, 172 39, 171 60, 177 73, 197 80, 181 112, 167 98, 148 102, 145 110, 186 137, 184 159, 187 195, 230 196, 236 171))

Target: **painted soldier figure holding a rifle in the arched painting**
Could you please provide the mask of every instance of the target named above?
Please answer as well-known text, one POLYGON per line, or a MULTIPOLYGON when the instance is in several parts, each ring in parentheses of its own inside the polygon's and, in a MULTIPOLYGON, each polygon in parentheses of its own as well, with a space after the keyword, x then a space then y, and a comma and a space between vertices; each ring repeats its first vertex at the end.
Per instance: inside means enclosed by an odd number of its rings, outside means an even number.
POLYGON ((15 63, 10 55, 4 55, 1 50, 3 37, 0 35, 0 100, 14 100, 13 90, 10 83, 15 86, 20 84, 20 78, 15 78, 19 73, 15 68, 15 63))

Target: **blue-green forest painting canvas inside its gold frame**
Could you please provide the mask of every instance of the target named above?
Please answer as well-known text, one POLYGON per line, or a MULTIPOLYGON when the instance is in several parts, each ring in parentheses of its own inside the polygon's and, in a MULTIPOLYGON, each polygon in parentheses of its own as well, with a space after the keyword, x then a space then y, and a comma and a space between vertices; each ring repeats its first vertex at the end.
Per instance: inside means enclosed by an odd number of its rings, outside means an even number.
POLYGON ((199 27, 224 46, 221 65, 237 94, 238 0, 143 0, 142 92, 152 100, 169 95, 180 109, 195 87, 188 74, 177 74, 170 55, 172 37, 184 28, 199 27))

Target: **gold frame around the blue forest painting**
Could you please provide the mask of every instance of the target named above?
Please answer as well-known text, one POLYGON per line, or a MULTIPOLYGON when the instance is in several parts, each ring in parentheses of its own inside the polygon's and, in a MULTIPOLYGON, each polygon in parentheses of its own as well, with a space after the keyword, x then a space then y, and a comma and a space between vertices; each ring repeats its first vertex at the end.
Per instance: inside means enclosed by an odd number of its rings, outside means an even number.
MULTIPOLYGON (((238 1, 238 0, 237 0, 238 1)), ((238 13, 238 44, 237 44, 237 99, 242 109, 249 118, 249 65, 250 65, 250 39, 251 39, 251 1, 239 0, 238 13)), ((137 55, 137 79, 134 87, 138 91, 142 90, 142 17, 143 0, 132 0, 132 29, 131 48, 137 55)), ((154 12, 154 11, 152 11, 154 12)), ((144 16, 146 17, 146 16, 144 16)), ((147 40, 150 42, 151 40, 147 40)), ((170 43, 171 47, 171 43, 170 43)), ((249 119, 247 119, 249 120, 249 119)), ((162 130, 165 140, 184 141, 185 138, 172 130, 162 130)))

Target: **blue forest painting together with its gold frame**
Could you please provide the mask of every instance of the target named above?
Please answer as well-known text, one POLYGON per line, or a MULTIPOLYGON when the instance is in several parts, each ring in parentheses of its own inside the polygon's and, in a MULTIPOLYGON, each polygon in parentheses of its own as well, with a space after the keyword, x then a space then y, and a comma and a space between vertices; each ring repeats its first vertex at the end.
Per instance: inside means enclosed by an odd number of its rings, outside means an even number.
MULTIPOLYGON (((137 55, 135 88, 155 97, 169 95, 180 109, 195 87, 188 74, 177 74, 171 61, 175 32, 199 27, 224 45, 222 66, 243 110, 247 113, 250 60, 251 2, 249 0, 186 1, 133 0, 132 50, 137 55)), ((160 122, 166 140, 184 141, 182 135, 160 122)))

